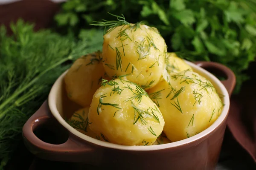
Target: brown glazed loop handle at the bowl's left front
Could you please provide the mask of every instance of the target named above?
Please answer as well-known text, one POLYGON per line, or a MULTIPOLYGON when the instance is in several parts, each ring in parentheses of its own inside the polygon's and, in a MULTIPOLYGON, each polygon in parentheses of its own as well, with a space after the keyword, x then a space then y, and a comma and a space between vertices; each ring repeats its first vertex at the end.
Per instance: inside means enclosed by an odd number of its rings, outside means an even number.
MULTIPOLYGON (((42 159, 51 161, 83 161, 92 163, 95 157, 95 146, 90 143, 82 142, 82 139, 76 137, 72 133, 68 134, 68 139, 62 144, 50 144, 39 139, 34 130, 47 122, 55 120, 49 111, 48 102, 39 108, 25 123, 22 129, 23 140, 30 152, 42 159)), ((58 127, 55 121, 53 127, 58 127)), ((60 126, 61 127, 61 126, 60 126)), ((64 129, 64 127, 62 127, 64 129)), ((64 129, 66 130, 66 129, 64 129)), ((67 132, 67 131, 66 131, 67 132)))

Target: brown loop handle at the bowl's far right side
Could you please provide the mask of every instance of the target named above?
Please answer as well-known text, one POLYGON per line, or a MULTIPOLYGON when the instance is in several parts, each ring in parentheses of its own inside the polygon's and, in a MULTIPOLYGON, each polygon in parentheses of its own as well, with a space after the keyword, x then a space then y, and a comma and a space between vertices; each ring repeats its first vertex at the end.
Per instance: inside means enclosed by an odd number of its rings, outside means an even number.
POLYGON ((195 62, 195 64, 206 70, 212 70, 224 74, 224 76, 227 77, 227 79, 222 80, 221 82, 227 88, 227 92, 231 96, 236 85, 236 76, 233 73, 233 71, 230 70, 230 68, 218 62, 198 61, 195 62))

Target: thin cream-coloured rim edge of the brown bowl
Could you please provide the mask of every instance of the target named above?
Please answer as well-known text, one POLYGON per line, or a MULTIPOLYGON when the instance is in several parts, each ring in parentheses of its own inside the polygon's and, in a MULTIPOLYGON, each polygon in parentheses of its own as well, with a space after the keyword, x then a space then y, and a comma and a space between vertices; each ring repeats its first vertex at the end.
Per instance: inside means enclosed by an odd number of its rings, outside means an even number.
POLYGON ((173 147, 178 147, 181 145, 186 145, 195 141, 198 141, 205 136, 207 136, 209 133, 212 133, 219 125, 221 125, 222 122, 226 119, 230 107, 230 98, 229 94, 227 92, 227 89, 225 86, 221 83, 221 81, 215 77, 213 74, 209 73, 207 70, 204 68, 201 68, 198 65, 195 65, 192 62, 185 61, 187 64, 189 64, 193 70, 196 70, 196 72, 201 72, 204 73, 207 79, 209 79, 215 87, 218 86, 219 92, 224 95, 223 102, 224 102, 224 108, 221 112, 221 115, 215 120, 215 122, 210 125, 207 129, 203 130, 201 133, 196 134, 195 136, 189 137, 187 139, 183 139, 177 142, 171 142, 168 144, 159 144, 159 145, 149 145, 149 146, 126 146, 126 145, 120 145, 120 144, 113 144, 110 142, 105 142, 105 141, 100 141, 98 139, 94 139, 90 136, 84 135, 83 133, 79 132, 75 128, 71 127, 60 115, 57 109, 56 105, 56 93, 58 91, 59 85, 61 85, 65 74, 67 73, 68 70, 66 70, 63 74, 61 74, 60 77, 55 81, 54 85, 52 86, 52 89, 49 93, 48 96, 48 105, 49 109, 52 113, 52 115, 55 117, 55 119, 58 120, 58 122, 64 126, 68 131, 73 133, 75 136, 84 139, 87 142, 90 142, 92 144, 96 144, 102 147, 108 147, 108 148, 113 148, 113 149, 119 149, 119 150, 137 150, 137 151, 149 151, 149 150, 162 150, 166 148, 173 148, 173 147))

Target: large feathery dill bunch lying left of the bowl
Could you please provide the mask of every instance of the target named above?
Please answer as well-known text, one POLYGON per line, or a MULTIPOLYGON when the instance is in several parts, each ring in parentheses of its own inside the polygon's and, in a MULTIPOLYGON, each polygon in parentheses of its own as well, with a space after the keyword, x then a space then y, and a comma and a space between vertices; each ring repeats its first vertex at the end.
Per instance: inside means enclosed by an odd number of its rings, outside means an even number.
POLYGON ((101 50, 103 31, 83 30, 83 40, 49 30, 33 31, 19 20, 11 24, 12 36, 0 27, 0 169, 21 139, 27 119, 47 99, 58 76, 70 60, 101 50))

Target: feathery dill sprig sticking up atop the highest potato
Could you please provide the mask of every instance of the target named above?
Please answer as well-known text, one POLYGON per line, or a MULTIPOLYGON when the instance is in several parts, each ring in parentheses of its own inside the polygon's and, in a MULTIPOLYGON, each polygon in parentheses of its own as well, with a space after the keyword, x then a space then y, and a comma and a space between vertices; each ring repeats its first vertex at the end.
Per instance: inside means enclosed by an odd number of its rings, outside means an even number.
POLYGON ((108 12, 108 14, 116 17, 117 20, 113 20, 113 21, 108 21, 108 20, 102 20, 102 21, 93 21, 94 23, 90 24, 93 26, 105 26, 105 30, 104 30, 104 34, 107 34, 111 31, 113 31, 113 29, 115 29, 118 26, 122 26, 122 25, 130 25, 130 23, 128 23, 127 21, 125 21, 125 16, 122 14, 122 16, 119 15, 114 15, 108 12), (107 31, 106 29, 109 28, 107 31))

